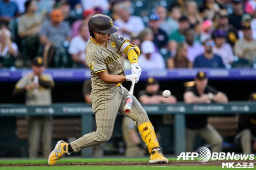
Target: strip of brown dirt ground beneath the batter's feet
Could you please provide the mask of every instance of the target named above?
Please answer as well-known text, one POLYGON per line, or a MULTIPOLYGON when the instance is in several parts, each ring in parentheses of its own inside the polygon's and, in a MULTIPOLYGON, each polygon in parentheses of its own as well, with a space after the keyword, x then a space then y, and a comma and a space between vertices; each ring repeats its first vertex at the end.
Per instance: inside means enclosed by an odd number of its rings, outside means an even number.
MULTIPOLYGON (((56 164, 54 166, 221 166, 221 163, 235 162, 235 163, 254 163, 255 160, 238 160, 238 161, 208 161, 206 163, 199 163, 198 161, 170 161, 168 164, 150 164, 148 162, 102 162, 102 163, 64 163, 56 164)), ((48 166, 47 164, 1 164, 0 167, 39 167, 48 166)))

